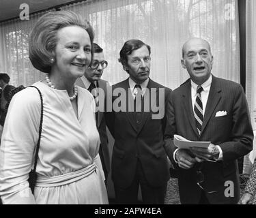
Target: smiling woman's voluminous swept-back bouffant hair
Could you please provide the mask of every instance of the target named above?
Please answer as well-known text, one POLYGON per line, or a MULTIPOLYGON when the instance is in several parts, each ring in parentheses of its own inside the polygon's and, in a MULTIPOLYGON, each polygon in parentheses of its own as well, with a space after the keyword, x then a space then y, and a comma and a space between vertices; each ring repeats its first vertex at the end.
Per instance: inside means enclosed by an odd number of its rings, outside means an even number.
MULTIPOLYGON (((87 20, 70 11, 48 12, 33 26, 29 37, 29 59, 36 69, 44 73, 51 72, 53 51, 57 44, 57 32, 64 27, 77 26, 89 34, 91 46, 94 42, 94 30, 87 20)), ((91 49, 91 60, 93 59, 91 49)))

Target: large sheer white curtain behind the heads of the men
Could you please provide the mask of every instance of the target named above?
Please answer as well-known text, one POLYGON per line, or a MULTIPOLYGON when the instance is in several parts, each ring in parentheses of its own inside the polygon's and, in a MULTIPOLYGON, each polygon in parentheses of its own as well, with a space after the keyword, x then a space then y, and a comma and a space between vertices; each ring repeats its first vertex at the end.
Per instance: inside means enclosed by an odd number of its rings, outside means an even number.
POLYGON ((180 65, 182 44, 203 37, 212 45, 213 73, 240 82, 238 10, 235 0, 95 0, 62 7, 87 18, 104 49, 111 84, 128 77, 118 63, 124 42, 152 47, 151 78, 171 89, 188 78, 180 65))

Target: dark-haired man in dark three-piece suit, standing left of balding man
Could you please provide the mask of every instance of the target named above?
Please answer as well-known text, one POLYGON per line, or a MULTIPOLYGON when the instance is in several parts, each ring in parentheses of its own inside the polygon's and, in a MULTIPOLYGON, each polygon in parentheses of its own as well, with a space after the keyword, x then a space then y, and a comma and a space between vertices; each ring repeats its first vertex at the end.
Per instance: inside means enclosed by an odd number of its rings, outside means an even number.
POLYGON ((149 78, 150 51, 140 40, 124 44, 119 62, 129 78, 111 87, 113 108, 106 108, 115 139, 111 172, 118 204, 137 203, 139 185, 144 203, 164 204, 170 177, 164 135, 171 89, 149 78))

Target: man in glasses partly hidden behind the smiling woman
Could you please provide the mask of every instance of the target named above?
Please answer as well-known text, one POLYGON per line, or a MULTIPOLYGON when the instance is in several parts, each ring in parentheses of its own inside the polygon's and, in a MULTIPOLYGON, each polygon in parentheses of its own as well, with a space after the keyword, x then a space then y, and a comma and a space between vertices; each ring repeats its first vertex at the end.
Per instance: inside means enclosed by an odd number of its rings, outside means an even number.
MULTIPOLYGON (((106 87, 109 86, 108 82, 101 79, 104 68, 107 67, 108 63, 104 59, 103 49, 96 43, 93 44, 94 49, 94 60, 91 66, 87 68, 84 76, 76 80, 76 84, 79 87, 83 87, 90 91, 96 99, 96 106, 104 104, 104 97, 98 97, 99 91, 102 91, 103 95, 106 93, 106 87), (99 102, 99 100, 101 102, 99 102)), ((103 106, 104 109, 104 106, 103 106)), ((98 110, 96 112, 96 124, 100 134, 100 160, 102 162, 102 168, 105 176, 105 183, 110 170, 110 155, 108 148, 108 137, 106 135, 106 122, 104 119, 104 111, 98 110)))

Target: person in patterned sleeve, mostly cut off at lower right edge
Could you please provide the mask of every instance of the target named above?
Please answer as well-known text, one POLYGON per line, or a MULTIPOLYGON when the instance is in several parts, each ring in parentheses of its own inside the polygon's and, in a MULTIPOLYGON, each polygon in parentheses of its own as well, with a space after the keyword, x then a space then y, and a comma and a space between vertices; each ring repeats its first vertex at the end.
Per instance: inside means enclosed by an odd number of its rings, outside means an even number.
POLYGON ((239 204, 256 204, 256 159, 253 164, 253 170, 250 178, 246 183, 244 194, 239 204))

